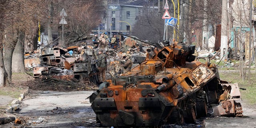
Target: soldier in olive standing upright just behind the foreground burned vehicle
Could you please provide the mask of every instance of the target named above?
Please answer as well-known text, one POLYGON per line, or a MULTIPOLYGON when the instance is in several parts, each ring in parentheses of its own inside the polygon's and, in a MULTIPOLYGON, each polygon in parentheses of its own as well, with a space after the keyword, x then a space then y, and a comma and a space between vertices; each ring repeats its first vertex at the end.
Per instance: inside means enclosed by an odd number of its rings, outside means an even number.
MULTIPOLYGON (((99 49, 99 55, 98 55, 98 60, 102 59, 105 57, 102 49, 99 49)), ((97 63, 98 65, 98 70, 100 71, 99 74, 102 78, 102 82, 106 81, 106 58, 102 59, 97 63)))

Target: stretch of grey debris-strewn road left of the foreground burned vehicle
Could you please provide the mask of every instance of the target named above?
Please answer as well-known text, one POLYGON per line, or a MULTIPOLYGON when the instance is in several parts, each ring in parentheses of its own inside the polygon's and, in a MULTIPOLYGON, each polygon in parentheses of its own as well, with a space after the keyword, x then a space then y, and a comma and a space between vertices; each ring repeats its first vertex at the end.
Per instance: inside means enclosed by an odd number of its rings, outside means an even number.
POLYGON ((92 91, 30 92, 16 113, 20 127, 96 128, 96 115, 86 99, 92 91))

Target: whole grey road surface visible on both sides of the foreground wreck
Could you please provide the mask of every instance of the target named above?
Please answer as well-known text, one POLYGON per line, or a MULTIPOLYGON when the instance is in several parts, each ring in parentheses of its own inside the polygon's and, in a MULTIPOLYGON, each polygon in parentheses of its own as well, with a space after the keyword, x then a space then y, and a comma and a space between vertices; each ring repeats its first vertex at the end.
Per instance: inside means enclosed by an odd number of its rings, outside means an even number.
MULTIPOLYGON (((95 122, 96 115, 90 107, 89 99, 86 99, 90 94, 92 94, 92 91, 51 92, 30 90, 28 96, 22 101, 22 107, 16 113, 22 124, 6 124, 4 127, 98 128, 99 125, 95 122)), ((205 128, 241 128, 243 126, 255 128, 255 105, 240 102, 243 107, 244 118, 205 118, 203 121, 205 128)), ((193 128, 194 126, 196 125, 193 125, 193 128)), ((187 125, 176 126, 175 128, 190 127, 187 125)))

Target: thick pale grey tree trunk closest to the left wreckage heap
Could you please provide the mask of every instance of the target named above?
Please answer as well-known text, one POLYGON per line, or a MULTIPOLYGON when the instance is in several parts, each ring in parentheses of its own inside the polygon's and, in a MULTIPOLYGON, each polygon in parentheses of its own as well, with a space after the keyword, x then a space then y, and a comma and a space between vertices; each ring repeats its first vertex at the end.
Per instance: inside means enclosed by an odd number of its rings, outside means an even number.
POLYGON ((19 31, 18 42, 12 55, 12 72, 25 72, 24 67, 24 38, 25 32, 19 31))

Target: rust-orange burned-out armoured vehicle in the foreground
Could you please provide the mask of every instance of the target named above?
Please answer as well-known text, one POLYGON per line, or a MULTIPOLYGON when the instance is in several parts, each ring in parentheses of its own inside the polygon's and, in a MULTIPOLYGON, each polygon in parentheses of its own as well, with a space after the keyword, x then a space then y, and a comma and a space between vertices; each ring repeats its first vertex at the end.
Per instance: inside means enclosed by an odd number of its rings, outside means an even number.
POLYGON ((174 42, 162 48, 145 43, 156 48, 141 64, 103 82, 90 96, 91 107, 102 126, 193 123, 206 116, 208 106, 213 104, 220 115, 242 116, 241 105, 235 101, 240 95, 232 93, 238 85, 220 80, 213 64, 195 61, 194 45, 174 42), (229 95, 220 98, 225 92, 229 95))

